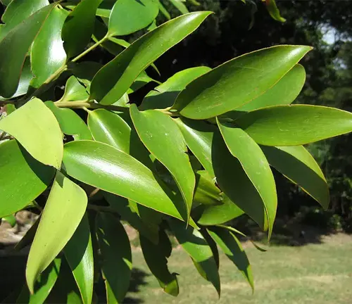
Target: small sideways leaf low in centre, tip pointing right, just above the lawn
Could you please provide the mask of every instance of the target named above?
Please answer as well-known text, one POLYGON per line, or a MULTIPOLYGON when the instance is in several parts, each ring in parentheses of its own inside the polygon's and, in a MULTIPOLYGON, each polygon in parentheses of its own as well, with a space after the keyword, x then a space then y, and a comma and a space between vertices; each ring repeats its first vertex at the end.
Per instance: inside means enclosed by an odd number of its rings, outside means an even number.
POLYGON ((202 208, 201 215, 197 223, 206 226, 222 224, 243 214, 244 212, 237 205, 235 205, 230 198, 223 195, 222 205, 207 205, 202 208))

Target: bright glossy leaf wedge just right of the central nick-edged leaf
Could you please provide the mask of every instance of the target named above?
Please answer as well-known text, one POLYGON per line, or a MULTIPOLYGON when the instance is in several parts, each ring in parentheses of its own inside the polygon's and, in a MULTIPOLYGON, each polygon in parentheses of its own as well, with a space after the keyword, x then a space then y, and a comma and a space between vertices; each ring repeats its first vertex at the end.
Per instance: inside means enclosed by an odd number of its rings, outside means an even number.
POLYGON ((211 163, 211 146, 215 128, 203 122, 178 118, 175 120, 180 127, 189 149, 203 165, 211 178, 215 177, 211 163))

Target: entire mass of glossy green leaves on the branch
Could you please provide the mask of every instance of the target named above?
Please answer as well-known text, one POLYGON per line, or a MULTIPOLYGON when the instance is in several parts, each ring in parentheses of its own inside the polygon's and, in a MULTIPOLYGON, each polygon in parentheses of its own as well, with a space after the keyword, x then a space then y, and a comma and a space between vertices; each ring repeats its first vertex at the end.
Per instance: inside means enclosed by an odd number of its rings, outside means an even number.
POLYGON ((291 106, 306 77, 298 61, 311 48, 272 46, 217 68, 181 70, 138 107, 133 92, 156 82, 146 69, 158 70, 154 61, 211 14, 156 26, 159 7, 157 0, 13 0, 6 8, 0 217, 41 213, 23 241, 32 246, 20 297, 30 302, 52 301, 56 279, 70 278, 61 296, 92 303, 103 280, 107 302, 122 303, 132 269, 123 222, 139 231, 166 293, 179 293, 167 229, 219 296, 217 245, 253 288, 241 232, 223 224, 246 213, 270 239, 277 211, 270 165, 327 208, 325 177, 303 144, 351 132, 352 114, 291 106), (140 30, 132 44, 122 39, 140 30), (113 60, 84 61, 99 46, 113 60))

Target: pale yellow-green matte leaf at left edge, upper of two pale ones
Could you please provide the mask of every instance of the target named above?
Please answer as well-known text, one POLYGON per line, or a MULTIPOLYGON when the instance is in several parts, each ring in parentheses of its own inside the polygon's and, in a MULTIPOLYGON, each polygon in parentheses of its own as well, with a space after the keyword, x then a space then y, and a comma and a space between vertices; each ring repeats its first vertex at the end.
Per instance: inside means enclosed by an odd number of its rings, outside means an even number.
POLYGON ((15 137, 28 153, 41 163, 57 169, 61 167, 61 129, 54 114, 40 99, 28 101, 0 120, 0 129, 15 137))

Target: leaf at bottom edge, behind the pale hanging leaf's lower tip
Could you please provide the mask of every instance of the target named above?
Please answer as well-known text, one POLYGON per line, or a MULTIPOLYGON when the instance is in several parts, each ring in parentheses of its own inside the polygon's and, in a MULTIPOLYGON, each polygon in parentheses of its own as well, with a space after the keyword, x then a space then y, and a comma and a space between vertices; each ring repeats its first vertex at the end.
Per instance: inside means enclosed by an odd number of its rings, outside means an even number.
POLYGON ((18 296, 17 303, 28 303, 28 304, 39 304, 44 303, 46 298, 49 296, 49 293, 53 289, 56 280, 58 279, 58 275, 61 270, 61 259, 56 258, 49 265, 46 270, 42 274, 40 274, 39 278, 35 282, 34 285, 34 293, 30 294, 27 286, 23 287, 23 290, 18 296))

